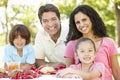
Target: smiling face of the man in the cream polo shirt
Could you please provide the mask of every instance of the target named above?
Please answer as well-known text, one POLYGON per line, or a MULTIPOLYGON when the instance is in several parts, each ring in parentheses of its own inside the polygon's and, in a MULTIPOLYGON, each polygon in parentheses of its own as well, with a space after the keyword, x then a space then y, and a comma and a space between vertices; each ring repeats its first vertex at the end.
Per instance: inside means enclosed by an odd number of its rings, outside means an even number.
POLYGON ((55 36, 60 32, 60 20, 55 12, 45 12, 42 15, 42 26, 50 36, 55 36))

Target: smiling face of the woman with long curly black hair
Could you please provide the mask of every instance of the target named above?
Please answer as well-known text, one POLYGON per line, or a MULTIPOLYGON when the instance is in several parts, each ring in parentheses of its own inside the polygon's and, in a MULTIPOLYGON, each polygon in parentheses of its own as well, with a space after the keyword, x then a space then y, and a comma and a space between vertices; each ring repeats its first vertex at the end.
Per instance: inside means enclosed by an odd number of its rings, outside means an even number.
POLYGON ((83 33, 83 35, 92 33, 92 23, 87 15, 78 12, 75 14, 74 20, 78 31, 83 33))

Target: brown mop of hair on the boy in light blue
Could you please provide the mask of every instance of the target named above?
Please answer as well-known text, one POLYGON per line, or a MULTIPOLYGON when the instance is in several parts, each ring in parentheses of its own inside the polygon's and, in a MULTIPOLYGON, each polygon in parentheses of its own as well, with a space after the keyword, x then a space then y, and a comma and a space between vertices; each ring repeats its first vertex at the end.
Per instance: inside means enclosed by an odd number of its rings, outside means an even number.
POLYGON ((12 30, 10 31, 10 34, 9 34, 9 42, 11 45, 14 45, 13 41, 19 35, 26 40, 26 44, 30 43, 31 34, 30 34, 30 31, 28 30, 27 26, 25 26, 23 24, 16 24, 12 28, 12 30))

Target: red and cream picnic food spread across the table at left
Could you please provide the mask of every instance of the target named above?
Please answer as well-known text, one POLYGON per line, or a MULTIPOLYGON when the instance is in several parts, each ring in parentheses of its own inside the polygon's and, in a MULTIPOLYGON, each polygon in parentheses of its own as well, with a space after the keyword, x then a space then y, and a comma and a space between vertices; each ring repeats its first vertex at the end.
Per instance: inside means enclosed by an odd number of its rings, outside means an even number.
MULTIPOLYGON (((17 66, 15 66, 17 67, 17 66)), ((11 79, 33 79, 33 78, 39 78, 42 74, 56 74, 56 72, 60 69, 65 68, 66 66, 64 64, 59 64, 55 68, 51 66, 45 66, 42 68, 35 68, 31 67, 30 70, 16 70, 15 67, 9 68, 12 71, 6 71, 4 69, 0 69, 0 78, 11 78, 11 79)))

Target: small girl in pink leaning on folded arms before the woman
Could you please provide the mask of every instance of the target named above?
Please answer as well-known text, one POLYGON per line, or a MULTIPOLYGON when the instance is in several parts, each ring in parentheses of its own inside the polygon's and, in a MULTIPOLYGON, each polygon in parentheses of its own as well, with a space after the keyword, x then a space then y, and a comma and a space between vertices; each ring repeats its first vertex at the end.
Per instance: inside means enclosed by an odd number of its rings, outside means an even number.
POLYGON ((95 52, 96 47, 91 39, 79 39, 75 45, 75 54, 78 57, 80 63, 77 65, 71 65, 70 68, 59 71, 57 76, 75 76, 76 78, 82 77, 82 79, 85 80, 104 80, 105 67, 103 63, 94 62, 95 52), (76 69, 76 71, 73 69, 76 69))

